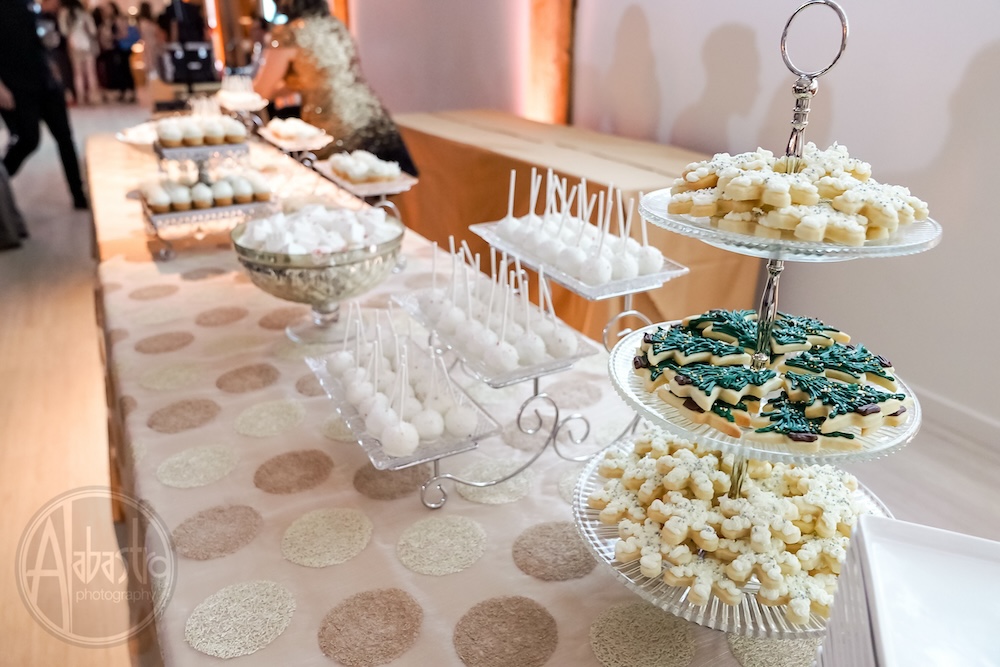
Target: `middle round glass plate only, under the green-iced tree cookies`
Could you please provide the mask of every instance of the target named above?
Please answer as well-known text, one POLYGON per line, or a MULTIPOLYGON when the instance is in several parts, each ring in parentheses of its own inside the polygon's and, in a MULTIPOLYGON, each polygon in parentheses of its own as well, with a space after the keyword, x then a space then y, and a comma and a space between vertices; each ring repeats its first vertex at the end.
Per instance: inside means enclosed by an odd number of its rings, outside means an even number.
MULTIPOLYGON (((831 463, 843 465, 856 461, 878 459, 904 447, 920 429, 920 402, 916 395, 897 376, 899 391, 913 399, 913 407, 908 408, 910 418, 899 426, 883 426, 875 433, 857 436, 851 442, 854 449, 820 449, 805 452, 784 443, 757 442, 747 438, 733 438, 707 424, 696 424, 672 405, 664 403, 655 393, 643 387, 642 378, 635 374, 632 359, 647 331, 676 322, 663 322, 643 327, 622 338, 608 359, 608 373, 611 384, 618 395, 642 417, 671 433, 683 438, 697 440, 707 447, 726 453, 746 454, 750 458, 763 461, 784 461, 786 463, 831 463)), ((855 429, 856 430, 856 429, 855 429)))

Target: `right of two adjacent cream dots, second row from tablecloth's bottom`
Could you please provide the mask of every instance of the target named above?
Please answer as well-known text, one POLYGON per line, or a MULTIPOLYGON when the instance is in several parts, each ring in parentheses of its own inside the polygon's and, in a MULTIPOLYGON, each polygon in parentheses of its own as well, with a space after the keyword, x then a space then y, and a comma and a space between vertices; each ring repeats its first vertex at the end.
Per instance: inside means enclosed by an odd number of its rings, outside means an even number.
POLYGON ((396 554, 407 569, 441 577, 461 572, 486 552, 486 531, 464 516, 432 516, 403 531, 396 554))

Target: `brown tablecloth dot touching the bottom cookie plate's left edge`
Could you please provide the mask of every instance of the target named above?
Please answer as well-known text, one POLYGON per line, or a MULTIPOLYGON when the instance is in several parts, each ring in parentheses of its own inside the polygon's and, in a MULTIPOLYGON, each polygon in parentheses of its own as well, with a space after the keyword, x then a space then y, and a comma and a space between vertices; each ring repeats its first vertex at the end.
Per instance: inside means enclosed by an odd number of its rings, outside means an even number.
POLYGON ((512 553, 521 572, 542 581, 579 579, 597 565, 570 521, 528 528, 514 541, 512 553))

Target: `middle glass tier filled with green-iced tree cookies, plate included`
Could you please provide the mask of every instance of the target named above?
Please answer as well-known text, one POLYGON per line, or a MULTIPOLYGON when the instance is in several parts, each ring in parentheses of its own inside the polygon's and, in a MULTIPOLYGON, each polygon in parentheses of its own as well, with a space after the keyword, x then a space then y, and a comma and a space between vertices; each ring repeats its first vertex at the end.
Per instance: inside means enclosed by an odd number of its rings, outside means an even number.
POLYGON ((767 368, 751 368, 756 343, 755 311, 711 310, 629 334, 612 351, 610 374, 654 423, 756 458, 871 459, 915 435, 912 392, 847 334, 782 313, 767 368))

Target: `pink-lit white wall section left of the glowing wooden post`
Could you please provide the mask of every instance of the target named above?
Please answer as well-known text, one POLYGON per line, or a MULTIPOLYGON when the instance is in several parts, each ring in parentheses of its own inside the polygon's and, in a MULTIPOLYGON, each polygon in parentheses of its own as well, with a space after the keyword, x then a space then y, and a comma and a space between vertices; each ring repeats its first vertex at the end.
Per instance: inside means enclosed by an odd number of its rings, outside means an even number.
POLYGON ((530 0, 353 0, 362 69, 392 113, 523 111, 530 0))

